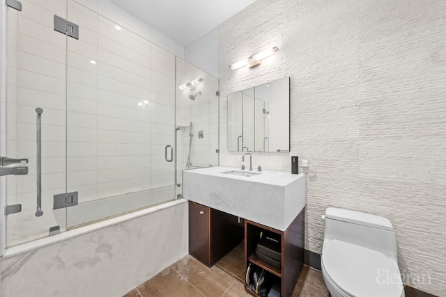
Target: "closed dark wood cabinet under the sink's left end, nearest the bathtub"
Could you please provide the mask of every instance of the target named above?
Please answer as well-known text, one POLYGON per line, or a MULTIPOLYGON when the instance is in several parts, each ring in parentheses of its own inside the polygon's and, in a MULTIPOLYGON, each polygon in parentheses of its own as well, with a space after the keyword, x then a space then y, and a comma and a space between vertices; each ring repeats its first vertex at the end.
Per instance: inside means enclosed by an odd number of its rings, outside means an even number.
POLYGON ((240 218, 189 201, 189 253, 206 266, 213 266, 243 241, 240 218))

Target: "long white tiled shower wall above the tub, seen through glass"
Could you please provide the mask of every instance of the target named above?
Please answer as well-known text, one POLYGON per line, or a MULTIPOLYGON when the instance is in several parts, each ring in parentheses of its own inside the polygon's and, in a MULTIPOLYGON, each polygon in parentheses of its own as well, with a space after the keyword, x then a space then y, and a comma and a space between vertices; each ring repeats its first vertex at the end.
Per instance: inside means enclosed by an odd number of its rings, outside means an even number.
POLYGON ((7 138, 8 155, 27 157, 30 164, 29 175, 8 177, 8 202, 22 203, 24 211, 36 208, 36 106, 44 109, 48 211, 56 193, 79 191, 82 203, 171 186, 174 167, 164 161, 164 146, 174 144, 176 57, 151 39, 156 35, 171 51, 178 50, 175 42, 146 24, 130 24, 133 17, 105 0, 99 8, 95 1, 22 4, 24 13, 8 17, 7 138), (79 40, 54 31, 54 14, 79 24, 79 40), (127 22, 121 30, 117 17, 127 22))

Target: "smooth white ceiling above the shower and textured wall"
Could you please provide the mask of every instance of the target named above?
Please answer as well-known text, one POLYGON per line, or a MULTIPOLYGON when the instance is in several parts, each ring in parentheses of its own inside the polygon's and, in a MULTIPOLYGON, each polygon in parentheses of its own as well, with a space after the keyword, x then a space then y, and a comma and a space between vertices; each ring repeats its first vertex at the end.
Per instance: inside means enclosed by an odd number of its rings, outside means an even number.
POLYGON ((180 45, 190 45, 255 0, 111 0, 180 45))

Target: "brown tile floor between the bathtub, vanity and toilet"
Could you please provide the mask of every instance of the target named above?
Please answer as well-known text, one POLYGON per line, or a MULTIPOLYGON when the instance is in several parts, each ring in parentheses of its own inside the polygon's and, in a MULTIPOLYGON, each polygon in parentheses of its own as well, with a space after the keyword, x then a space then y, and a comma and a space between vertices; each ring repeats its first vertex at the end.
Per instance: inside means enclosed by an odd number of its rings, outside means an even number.
MULTIPOLYGON (((244 262, 242 243, 211 268, 187 255, 124 297, 251 296, 245 292, 244 262)), ((325 296, 328 290, 321 271, 304 266, 292 297, 325 296)))

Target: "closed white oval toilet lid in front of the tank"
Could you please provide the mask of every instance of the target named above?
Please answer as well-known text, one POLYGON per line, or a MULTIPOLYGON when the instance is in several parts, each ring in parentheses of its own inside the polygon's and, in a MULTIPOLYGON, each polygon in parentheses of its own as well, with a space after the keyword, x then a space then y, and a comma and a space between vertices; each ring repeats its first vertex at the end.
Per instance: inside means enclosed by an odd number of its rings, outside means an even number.
POLYGON ((351 296, 401 296, 399 268, 376 250, 332 240, 322 252, 325 273, 351 296))

